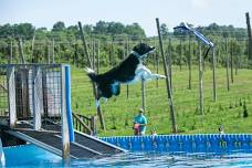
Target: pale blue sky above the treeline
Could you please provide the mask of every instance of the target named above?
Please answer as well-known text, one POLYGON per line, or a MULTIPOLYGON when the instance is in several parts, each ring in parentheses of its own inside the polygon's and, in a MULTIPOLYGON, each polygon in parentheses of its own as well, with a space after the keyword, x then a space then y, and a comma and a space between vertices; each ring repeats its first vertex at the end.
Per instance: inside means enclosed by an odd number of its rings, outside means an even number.
POLYGON ((182 21, 245 28, 245 12, 252 15, 252 0, 0 0, 0 25, 29 22, 52 29, 57 21, 66 27, 77 21, 137 22, 151 36, 157 35, 156 18, 169 31, 182 21))

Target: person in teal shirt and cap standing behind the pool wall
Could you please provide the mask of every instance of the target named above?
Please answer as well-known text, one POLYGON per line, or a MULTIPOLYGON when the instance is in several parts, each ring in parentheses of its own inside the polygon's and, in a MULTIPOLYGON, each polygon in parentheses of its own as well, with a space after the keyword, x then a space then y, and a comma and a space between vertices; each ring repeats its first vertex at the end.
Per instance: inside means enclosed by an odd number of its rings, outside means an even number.
POLYGON ((134 118, 134 135, 145 135, 147 119, 144 109, 139 108, 139 114, 134 118))

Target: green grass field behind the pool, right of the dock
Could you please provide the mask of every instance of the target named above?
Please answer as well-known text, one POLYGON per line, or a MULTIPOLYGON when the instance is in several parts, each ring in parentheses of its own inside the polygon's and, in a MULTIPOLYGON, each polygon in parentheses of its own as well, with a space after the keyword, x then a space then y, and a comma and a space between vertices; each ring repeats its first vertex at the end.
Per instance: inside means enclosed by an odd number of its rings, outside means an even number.
MULTIPOLYGON (((153 67, 153 65, 149 65, 153 67)), ((106 69, 102 70, 103 72, 106 69)), ((159 72, 164 74, 162 72, 159 72)), ((192 90, 188 90, 188 70, 172 69, 174 105, 179 133, 218 133, 223 125, 225 133, 252 133, 252 71, 239 70, 234 83, 230 81, 227 90, 225 69, 217 69, 217 102, 212 101, 212 71, 207 67, 203 73, 204 113, 198 112, 198 67, 192 70, 192 90), (249 117, 243 117, 243 104, 246 103, 249 117)), ((155 128, 158 134, 171 134, 171 122, 167 99, 166 83, 151 81, 146 84, 146 105, 148 119, 147 134, 155 128)), ((140 83, 129 85, 129 98, 126 85, 122 85, 119 96, 102 103, 106 132, 99 128, 99 136, 133 135, 132 123, 141 106, 140 83)), ((72 108, 75 113, 95 115, 92 84, 84 70, 72 67, 72 108)))

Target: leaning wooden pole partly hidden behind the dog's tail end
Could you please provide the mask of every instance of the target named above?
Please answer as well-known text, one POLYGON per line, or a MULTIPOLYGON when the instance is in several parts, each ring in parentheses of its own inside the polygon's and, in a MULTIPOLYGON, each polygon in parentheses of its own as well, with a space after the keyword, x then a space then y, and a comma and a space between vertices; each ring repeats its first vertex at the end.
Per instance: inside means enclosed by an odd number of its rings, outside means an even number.
MULTIPOLYGON (((88 66, 92 67, 92 63, 91 63, 90 54, 87 52, 87 45, 86 45, 86 41, 85 41, 85 36, 84 36, 84 32, 83 32, 83 28, 82 28, 82 23, 81 22, 78 22, 78 29, 80 29, 80 33, 81 33, 81 38, 82 38, 82 42, 83 42, 83 48, 84 48, 84 53, 86 55, 88 66)), ((97 97, 97 91, 96 91, 95 83, 93 83, 93 91, 94 91, 95 99, 97 99, 96 98, 97 97)), ((101 109, 101 105, 96 108, 96 111, 97 111, 97 114, 98 114, 98 117, 99 117, 99 123, 101 123, 102 129, 105 130, 106 126, 105 126, 103 113, 102 113, 102 109, 101 109)))

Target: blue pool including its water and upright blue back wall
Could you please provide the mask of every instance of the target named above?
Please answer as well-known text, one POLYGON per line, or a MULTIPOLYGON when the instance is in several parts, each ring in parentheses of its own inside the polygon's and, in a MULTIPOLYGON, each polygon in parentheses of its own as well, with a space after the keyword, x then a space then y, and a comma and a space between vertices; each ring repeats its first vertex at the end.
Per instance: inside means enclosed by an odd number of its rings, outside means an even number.
POLYGON ((104 158, 64 161, 34 145, 6 147, 6 167, 252 167, 251 135, 132 136, 102 139, 124 146, 129 151, 104 158))

